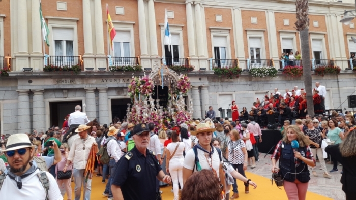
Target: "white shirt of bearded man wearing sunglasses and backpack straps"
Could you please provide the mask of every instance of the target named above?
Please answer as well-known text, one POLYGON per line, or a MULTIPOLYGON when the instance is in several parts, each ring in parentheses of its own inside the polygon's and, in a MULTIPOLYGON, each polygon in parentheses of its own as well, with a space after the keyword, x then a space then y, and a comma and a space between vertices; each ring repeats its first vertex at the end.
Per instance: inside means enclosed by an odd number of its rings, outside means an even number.
MULTIPOLYGON (((9 176, 6 176, 3 186, 0 190, 1 199, 45 200, 46 190, 42 186, 41 181, 37 176, 38 173, 40 173, 40 170, 37 169, 35 173, 32 173, 28 177, 22 179, 21 189, 18 189, 15 180, 12 180, 9 176)), ((49 199, 63 200, 60 188, 58 188, 58 184, 55 181, 54 177, 49 172, 46 172, 46 174, 49 180, 49 199)))

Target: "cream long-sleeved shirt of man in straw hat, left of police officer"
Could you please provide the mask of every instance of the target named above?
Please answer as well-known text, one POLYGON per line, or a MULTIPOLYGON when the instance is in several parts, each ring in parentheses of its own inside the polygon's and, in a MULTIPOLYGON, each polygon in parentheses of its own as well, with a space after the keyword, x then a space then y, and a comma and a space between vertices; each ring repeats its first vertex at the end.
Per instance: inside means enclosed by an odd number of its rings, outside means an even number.
POLYGON ((91 136, 88 137, 89 138, 86 141, 76 138, 69 152, 68 160, 73 162, 73 167, 77 170, 85 169, 90 149, 92 148, 93 143, 95 143, 95 138, 91 136), (84 145, 85 149, 83 149, 84 145))

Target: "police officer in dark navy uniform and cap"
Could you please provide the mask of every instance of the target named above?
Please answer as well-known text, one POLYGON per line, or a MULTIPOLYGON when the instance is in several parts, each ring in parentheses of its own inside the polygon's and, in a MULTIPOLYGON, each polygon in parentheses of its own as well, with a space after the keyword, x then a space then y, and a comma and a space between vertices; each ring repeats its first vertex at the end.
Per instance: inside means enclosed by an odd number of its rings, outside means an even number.
POLYGON ((156 177, 165 183, 170 183, 171 179, 162 171, 154 153, 147 149, 150 144, 149 127, 146 124, 135 125, 131 134, 135 147, 116 164, 112 194, 116 200, 156 200, 156 177))

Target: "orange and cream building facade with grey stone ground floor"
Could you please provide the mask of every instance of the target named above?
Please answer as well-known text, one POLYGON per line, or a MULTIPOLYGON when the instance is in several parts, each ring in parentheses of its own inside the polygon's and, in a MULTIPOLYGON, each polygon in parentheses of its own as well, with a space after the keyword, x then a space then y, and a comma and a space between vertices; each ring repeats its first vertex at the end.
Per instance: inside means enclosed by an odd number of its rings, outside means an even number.
MULTIPOLYGON (((347 107, 347 96, 354 94, 355 75, 346 69, 350 67, 351 53, 356 53, 351 40, 356 31, 353 22, 343 25, 339 21, 344 10, 354 8, 353 3, 309 1, 311 58, 332 61, 342 68, 339 76, 313 75, 313 82, 327 86, 326 104, 330 109, 352 110, 347 107)), ((211 71, 213 67, 237 64, 249 69, 253 65, 247 60, 253 59, 273 61, 279 69, 282 52, 303 51, 293 28, 293 1, 42 1, 50 30, 50 46, 45 46, 49 57, 43 56, 38 9, 38 0, 0 2, 0 67, 11 65, 9 77, 0 80, 2 134, 61 126, 77 104, 90 119, 98 118, 101 123, 123 116, 130 102, 128 82, 143 72, 109 72, 108 55, 117 60, 130 57, 129 64, 138 63, 142 68, 152 68, 163 56, 169 57, 167 47, 162 45, 165 10, 174 39, 172 62, 195 68, 188 73, 193 88, 187 95, 193 99, 194 117, 204 118, 210 105, 216 111, 222 107, 224 113, 217 111, 218 117, 228 116, 232 99, 240 110, 243 106, 249 110, 256 98, 261 99, 274 88, 282 94, 285 88, 295 85, 304 88, 303 78, 281 73, 277 78, 262 79, 243 72, 239 79, 228 80, 211 71), (115 50, 108 48, 106 4, 116 30, 115 50), (44 72, 44 63, 56 64, 53 60, 59 56, 76 59, 76 63, 82 59, 82 72, 44 72), (24 72, 24 68, 32 71, 24 72), (105 70, 99 71, 102 68, 105 70)))

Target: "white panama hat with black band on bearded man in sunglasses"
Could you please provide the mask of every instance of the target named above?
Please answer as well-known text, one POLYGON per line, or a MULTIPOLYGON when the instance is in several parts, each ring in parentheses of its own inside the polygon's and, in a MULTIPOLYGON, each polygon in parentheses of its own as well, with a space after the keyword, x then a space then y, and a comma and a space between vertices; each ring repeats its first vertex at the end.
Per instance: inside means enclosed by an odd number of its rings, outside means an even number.
POLYGON ((35 145, 31 144, 26 134, 13 134, 8 138, 8 142, 6 143, 6 148, 0 151, 12 151, 12 150, 22 149, 26 147, 34 148, 35 145))

